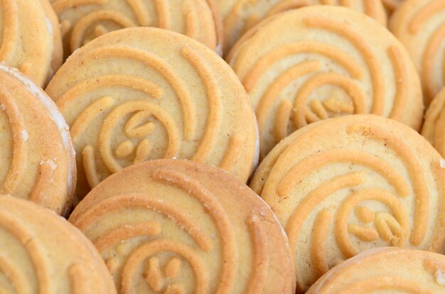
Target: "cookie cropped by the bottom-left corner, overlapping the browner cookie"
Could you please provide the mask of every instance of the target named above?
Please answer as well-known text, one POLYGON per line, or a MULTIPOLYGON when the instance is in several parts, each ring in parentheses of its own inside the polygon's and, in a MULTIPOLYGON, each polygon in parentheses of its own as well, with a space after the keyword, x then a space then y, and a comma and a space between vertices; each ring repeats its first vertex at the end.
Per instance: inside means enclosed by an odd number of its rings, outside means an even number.
POLYGON ((116 293, 91 242, 32 202, 0 196, 0 244, 0 293, 116 293))

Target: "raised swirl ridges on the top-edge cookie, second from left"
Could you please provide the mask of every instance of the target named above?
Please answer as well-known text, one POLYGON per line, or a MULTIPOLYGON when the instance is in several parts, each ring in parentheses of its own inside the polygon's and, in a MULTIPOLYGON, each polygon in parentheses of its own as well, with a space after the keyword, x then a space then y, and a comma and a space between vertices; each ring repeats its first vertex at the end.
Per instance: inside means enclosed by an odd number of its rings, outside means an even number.
POLYGON ((60 16, 65 11, 89 6, 92 11, 80 17, 73 23, 68 19, 61 21, 63 38, 69 38, 70 50, 74 52, 77 48, 90 42, 93 38, 104 35, 109 32, 109 28, 104 23, 113 23, 117 28, 131 28, 135 26, 155 26, 166 30, 173 29, 173 15, 178 9, 183 14, 184 29, 181 33, 190 38, 198 38, 200 31, 200 18, 195 4, 190 1, 183 1, 181 7, 173 6, 169 0, 152 0, 151 5, 156 11, 156 20, 151 19, 147 4, 144 0, 122 0, 123 4, 127 4, 128 8, 134 16, 136 22, 125 14, 123 11, 113 9, 109 0, 53 0, 53 8, 60 16))

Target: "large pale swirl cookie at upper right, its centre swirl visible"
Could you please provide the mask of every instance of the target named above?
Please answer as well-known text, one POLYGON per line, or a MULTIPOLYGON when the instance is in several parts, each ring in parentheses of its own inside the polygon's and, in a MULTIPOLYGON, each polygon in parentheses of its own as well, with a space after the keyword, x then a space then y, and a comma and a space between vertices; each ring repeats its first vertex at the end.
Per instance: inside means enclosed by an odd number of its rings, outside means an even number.
POLYGON ((306 124, 379 114, 419 129, 422 89, 406 50, 371 18, 309 6, 263 21, 227 60, 250 94, 261 156, 306 124))

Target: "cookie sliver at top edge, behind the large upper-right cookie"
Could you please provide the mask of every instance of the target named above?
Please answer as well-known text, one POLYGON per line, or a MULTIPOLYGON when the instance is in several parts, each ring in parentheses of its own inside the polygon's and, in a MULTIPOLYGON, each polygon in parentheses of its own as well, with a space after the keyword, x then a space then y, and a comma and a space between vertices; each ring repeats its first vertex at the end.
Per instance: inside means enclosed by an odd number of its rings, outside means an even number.
POLYGON ((215 0, 223 16, 224 22, 224 52, 240 39, 243 33, 247 32, 255 24, 264 18, 277 13, 298 9, 309 5, 341 5, 366 13, 375 18, 383 26, 386 26, 387 16, 382 6, 381 0, 355 0, 355 1, 335 1, 330 0, 215 0))

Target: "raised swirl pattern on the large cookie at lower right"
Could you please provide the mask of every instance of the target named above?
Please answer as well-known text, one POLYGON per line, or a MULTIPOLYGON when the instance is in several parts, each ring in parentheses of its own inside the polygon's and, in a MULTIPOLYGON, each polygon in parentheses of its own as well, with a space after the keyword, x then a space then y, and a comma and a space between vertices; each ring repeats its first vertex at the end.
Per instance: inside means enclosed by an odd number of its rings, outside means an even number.
MULTIPOLYGON (((313 128, 316 131, 317 127, 313 128)), ((400 158, 406 170, 395 169, 380 154, 358 151, 353 146, 311 153, 288 168, 285 167, 289 165, 286 155, 298 153, 302 148, 299 142, 310 138, 313 131, 290 143, 282 153, 283 158, 279 158, 272 168, 272 173, 274 170, 288 171, 283 171, 280 178, 274 175, 274 184, 266 182, 262 191, 267 202, 274 198, 272 207, 277 211, 282 210, 279 202, 294 197, 291 196, 295 195, 293 191, 306 189, 304 187, 311 183, 308 181, 313 180, 314 173, 323 173, 338 164, 350 166, 346 172, 321 178, 313 189, 308 187, 307 194, 296 201, 284 223, 291 250, 296 256, 297 288, 300 291, 307 290, 306 285, 314 283, 339 261, 359 254, 363 248, 408 246, 439 251, 444 242, 440 232, 444 214, 439 212, 431 226, 431 218, 436 212, 430 211, 430 202, 436 200, 430 198, 429 172, 422 168, 412 146, 382 126, 350 124, 347 133, 357 142, 379 142, 387 152, 400 158), (378 183, 380 180, 369 180, 375 179, 376 175, 384 180, 383 184, 378 183), (271 198, 269 195, 275 196, 271 198), (312 227, 309 231, 305 229, 308 226, 312 227), (309 232, 306 245, 301 243, 306 238, 302 235, 304 231, 309 232), (432 238, 429 232, 434 232, 432 238), (304 257, 301 250, 307 250, 309 257, 304 257)), ((436 161, 431 163, 431 169, 439 185, 437 197, 443 197, 444 171, 436 161)), ((444 203, 439 202, 442 207, 444 203)))

